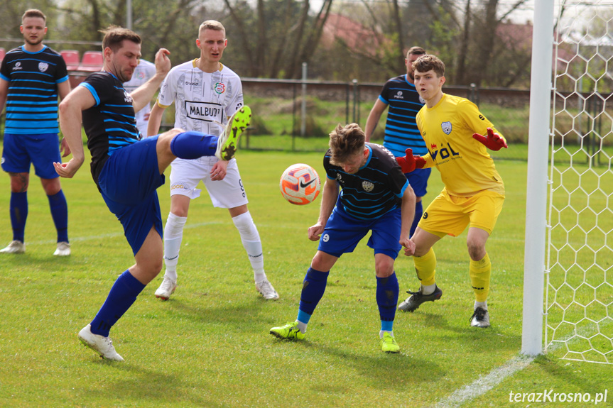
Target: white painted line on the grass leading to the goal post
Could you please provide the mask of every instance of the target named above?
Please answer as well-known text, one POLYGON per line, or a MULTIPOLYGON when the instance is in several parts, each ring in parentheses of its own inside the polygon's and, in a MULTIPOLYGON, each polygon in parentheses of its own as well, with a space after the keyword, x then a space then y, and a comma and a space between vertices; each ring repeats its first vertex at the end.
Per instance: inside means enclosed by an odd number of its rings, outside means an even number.
POLYGON ((460 407, 461 404, 492 390, 492 388, 499 385, 506 377, 510 377, 518 371, 524 370, 533 360, 534 357, 527 355, 519 355, 518 357, 511 358, 511 360, 501 365, 501 367, 494 368, 485 376, 480 375, 479 378, 474 380, 471 384, 465 385, 465 387, 452 392, 448 397, 441 399, 435 405, 435 408, 460 407))

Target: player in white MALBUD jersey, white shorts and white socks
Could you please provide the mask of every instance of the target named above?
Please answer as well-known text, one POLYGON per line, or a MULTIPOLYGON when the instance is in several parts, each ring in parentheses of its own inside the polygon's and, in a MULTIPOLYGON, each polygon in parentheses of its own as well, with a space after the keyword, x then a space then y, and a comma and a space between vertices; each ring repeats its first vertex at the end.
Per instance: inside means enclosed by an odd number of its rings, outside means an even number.
MULTIPOLYGON (((218 21, 200 25, 196 45, 200 57, 174 67, 164 79, 158 101, 149 117, 148 135, 155 135, 164 109, 175 104, 175 127, 202 131, 217 136, 223 124, 243 106, 241 79, 221 60, 227 39, 218 21)), ((213 206, 229 210, 234 226, 254 270, 256 290, 264 299, 278 299, 266 278, 264 255, 258 230, 247 209, 247 197, 236 160, 216 158, 176 159, 170 172, 170 214, 164 227, 164 263, 166 272, 156 297, 168 299, 177 287, 177 264, 187 221, 190 200, 200 196, 197 184, 202 180, 213 206)))

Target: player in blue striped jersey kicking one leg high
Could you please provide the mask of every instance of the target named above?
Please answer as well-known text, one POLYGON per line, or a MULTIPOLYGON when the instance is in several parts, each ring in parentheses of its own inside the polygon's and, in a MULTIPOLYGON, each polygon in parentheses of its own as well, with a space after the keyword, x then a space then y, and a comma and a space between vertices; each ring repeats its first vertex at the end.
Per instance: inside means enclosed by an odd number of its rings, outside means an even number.
POLYGON ((162 218, 156 189, 164 184, 164 170, 175 158, 215 155, 230 160, 240 134, 249 126, 251 111, 244 106, 229 120, 222 136, 172 129, 141 139, 134 111, 148 104, 170 70, 168 50, 156 53, 156 75, 129 94, 129 81, 141 57, 141 38, 134 31, 111 26, 104 32, 104 67, 76 87, 60 104, 60 126, 72 158, 55 162, 55 171, 72 177, 83 164, 81 118, 92 153, 92 176, 109 210, 124 227, 135 263, 112 286, 91 324, 80 332, 85 346, 102 358, 122 361, 109 339, 121 319, 163 265, 162 218))

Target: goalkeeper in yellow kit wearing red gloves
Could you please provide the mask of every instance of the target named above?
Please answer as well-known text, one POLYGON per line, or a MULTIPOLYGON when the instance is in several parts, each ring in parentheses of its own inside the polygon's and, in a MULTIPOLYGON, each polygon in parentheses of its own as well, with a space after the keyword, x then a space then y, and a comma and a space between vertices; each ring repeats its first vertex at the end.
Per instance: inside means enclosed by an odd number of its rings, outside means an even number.
POLYGON ((466 241, 475 296, 470 325, 489 327, 487 294, 492 264, 485 243, 502 209, 504 183, 487 148, 507 148, 506 140, 471 101, 443 93, 445 64, 438 57, 419 57, 413 70, 417 92, 425 100, 416 121, 428 153, 413 156, 407 149, 406 156, 396 160, 403 172, 436 167, 445 188, 425 210, 411 238, 421 285, 418 292, 408 292, 411 296, 398 309, 414 311, 423 302, 440 299, 443 291, 435 283, 432 247, 445 235, 458 236, 469 226, 466 241))

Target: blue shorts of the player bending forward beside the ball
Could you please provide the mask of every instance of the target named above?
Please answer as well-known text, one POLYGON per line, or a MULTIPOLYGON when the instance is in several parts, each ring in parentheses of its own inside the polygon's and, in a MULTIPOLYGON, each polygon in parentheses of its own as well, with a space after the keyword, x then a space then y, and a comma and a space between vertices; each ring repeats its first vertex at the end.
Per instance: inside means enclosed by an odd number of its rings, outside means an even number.
POLYGON ((368 246, 374 253, 384 253, 396 259, 401 250, 400 229, 402 225, 401 209, 389 211, 378 219, 363 220, 350 216, 337 201, 330 219, 325 224, 319 241, 318 250, 340 258, 344 253, 353 252, 357 243, 372 231, 368 246))

